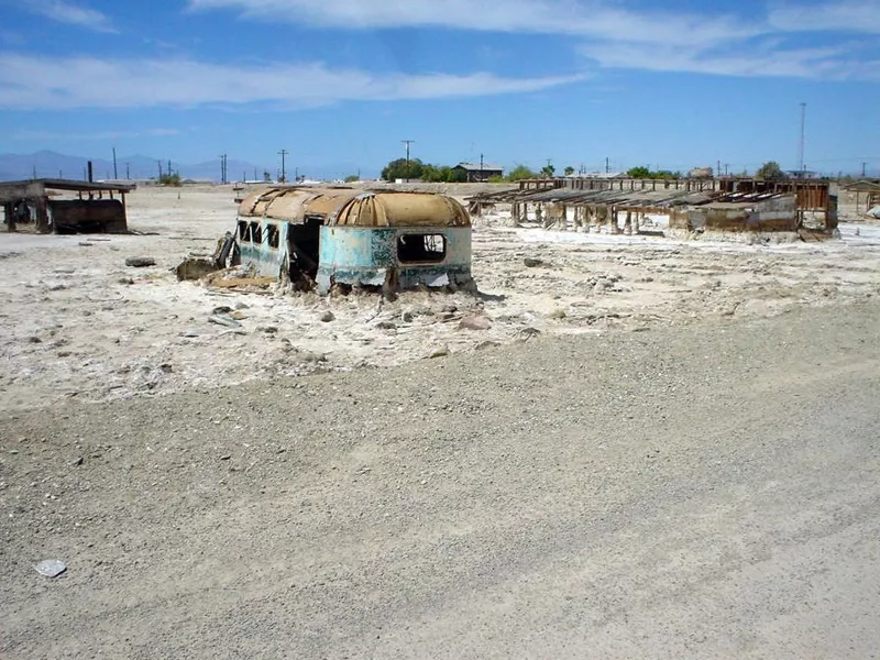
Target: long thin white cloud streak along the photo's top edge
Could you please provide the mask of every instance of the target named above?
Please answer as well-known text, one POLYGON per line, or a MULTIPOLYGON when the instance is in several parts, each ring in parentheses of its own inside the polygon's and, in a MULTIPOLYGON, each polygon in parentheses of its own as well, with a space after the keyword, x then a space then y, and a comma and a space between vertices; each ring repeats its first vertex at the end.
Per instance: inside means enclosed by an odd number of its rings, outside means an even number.
POLYGON ((242 16, 348 30, 450 28, 566 34, 637 43, 715 43, 762 28, 724 15, 635 12, 596 0, 189 0, 194 10, 230 9, 242 16))

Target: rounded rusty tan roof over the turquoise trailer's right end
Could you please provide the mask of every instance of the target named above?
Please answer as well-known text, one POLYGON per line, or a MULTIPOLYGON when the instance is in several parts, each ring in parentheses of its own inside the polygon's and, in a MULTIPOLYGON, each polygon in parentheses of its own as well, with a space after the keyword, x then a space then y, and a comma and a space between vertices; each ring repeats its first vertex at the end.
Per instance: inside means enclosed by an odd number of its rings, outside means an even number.
POLYGON ((470 227, 458 201, 432 193, 363 193, 349 200, 328 224, 346 227, 470 227))

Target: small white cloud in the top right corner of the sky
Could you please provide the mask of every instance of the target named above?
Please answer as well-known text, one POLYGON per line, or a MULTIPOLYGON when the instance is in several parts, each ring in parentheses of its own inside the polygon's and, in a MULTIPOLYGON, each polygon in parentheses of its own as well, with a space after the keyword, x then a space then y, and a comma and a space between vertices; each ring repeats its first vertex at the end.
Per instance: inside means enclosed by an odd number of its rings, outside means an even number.
POLYGON ((880 34, 877 0, 844 0, 818 4, 781 4, 770 12, 770 25, 780 32, 859 32, 880 34))

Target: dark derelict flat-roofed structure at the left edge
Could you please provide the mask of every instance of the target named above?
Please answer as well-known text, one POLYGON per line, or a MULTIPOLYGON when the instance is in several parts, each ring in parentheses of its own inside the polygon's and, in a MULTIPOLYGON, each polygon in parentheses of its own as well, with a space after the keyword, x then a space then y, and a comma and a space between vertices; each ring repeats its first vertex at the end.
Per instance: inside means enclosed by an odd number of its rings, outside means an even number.
POLYGON ((10 232, 33 226, 37 233, 125 233, 125 194, 135 187, 68 179, 2 182, 3 222, 10 232), (56 198, 74 193, 74 199, 56 198))

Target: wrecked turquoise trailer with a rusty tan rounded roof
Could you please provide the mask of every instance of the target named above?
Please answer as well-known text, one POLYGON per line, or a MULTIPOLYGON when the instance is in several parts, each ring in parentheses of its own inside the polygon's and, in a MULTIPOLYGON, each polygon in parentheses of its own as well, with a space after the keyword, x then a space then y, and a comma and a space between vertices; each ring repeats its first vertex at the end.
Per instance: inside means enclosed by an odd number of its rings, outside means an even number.
POLYGON ((470 287, 471 220, 430 193, 272 188, 239 207, 243 264, 327 293, 334 285, 470 287))

